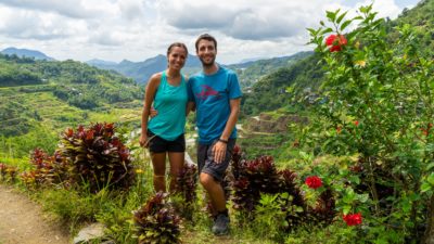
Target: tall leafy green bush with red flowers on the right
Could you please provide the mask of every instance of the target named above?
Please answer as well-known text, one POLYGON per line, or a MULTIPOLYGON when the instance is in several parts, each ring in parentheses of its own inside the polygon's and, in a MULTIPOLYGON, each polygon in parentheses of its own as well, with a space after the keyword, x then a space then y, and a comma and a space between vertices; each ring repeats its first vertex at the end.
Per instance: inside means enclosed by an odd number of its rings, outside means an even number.
MULTIPOLYGON (((419 226, 427 218, 429 203, 420 185, 429 178, 426 164, 433 159, 433 61, 420 49, 420 39, 409 25, 397 26, 399 38, 391 42, 386 23, 375 18, 371 5, 359 12, 349 20, 358 21, 359 27, 345 35, 347 43, 340 43, 337 51, 322 36, 345 31, 348 22, 340 23, 343 14, 339 11, 328 13, 331 28, 322 23, 309 30, 328 73, 318 100, 322 117, 312 125, 306 142, 318 147, 317 154, 358 154, 353 180, 360 185, 353 185, 355 191, 349 185, 337 188, 344 213, 362 210, 368 224, 371 218, 381 219, 383 231, 400 231, 399 239, 387 241, 420 239, 419 226), (365 198, 357 198, 356 191, 369 193, 370 201, 356 207, 355 201, 365 198)), ((330 169, 324 171, 330 176, 330 169)), ((339 174, 349 176, 342 169, 339 174)), ((378 231, 371 227, 368 232, 378 231)))

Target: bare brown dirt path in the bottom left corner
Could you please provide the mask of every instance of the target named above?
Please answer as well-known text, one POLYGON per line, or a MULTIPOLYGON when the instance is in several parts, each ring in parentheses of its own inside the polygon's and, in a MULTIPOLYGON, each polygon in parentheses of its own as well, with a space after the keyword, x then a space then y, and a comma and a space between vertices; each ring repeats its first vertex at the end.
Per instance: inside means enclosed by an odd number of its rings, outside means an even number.
POLYGON ((67 244, 67 232, 43 216, 41 207, 0 184, 0 244, 67 244))

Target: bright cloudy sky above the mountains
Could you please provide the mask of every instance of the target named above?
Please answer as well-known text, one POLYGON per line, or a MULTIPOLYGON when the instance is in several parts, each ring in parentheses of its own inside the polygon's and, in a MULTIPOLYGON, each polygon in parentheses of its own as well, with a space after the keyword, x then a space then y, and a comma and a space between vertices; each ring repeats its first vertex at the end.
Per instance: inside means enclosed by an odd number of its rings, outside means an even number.
MULTIPOLYGON (((195 38, 216 36, 220 63, 310 50, 307 27, 326 10, 349 14, 370 0, 1 0, 0 50, 34 49, 56 59, 143 61, 195 38)), ((395 18, 417 0, 376 0, 379 15, 395 18)))

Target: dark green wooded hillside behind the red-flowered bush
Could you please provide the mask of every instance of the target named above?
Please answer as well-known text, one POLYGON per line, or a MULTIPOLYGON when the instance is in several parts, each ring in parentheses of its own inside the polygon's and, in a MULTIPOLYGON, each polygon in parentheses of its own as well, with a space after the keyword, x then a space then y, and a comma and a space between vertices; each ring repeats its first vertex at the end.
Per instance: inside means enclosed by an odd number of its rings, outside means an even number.
MULTIPOLYGON (((397 20, 386 20, 385 27, 391 40, 397 38, 396 26, 410 24, 416 27, 416 42, 421 46, 420 49, 434 56, 433 13, 434 0, 424 0, 411 10, 404 10, 397 20)), ((243 97, 242 114, 256 115, 263 111, 288 106, 292 97, 315 99, 315 91, 326 73, 318 62, 318 57, 310 55, 261 77, 243 97), (290 86, 293 92, 286 91, 290 86)))

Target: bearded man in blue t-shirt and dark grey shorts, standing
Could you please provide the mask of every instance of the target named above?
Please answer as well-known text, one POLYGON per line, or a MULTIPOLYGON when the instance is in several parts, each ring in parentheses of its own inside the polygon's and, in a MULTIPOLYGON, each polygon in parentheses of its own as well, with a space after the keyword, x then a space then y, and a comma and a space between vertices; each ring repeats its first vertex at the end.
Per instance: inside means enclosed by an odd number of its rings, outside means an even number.
POLYGON ((229 232, 230 220, 220 182, 237 140, 242 93, 235 73, 215 62, 217 41, 213 36, 201 35, 195 48, 203 70, 190 77, 188 91, 189 107, 196 107, 199 178, 215 211, 213 232, 221 235, 229 232))

